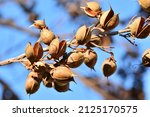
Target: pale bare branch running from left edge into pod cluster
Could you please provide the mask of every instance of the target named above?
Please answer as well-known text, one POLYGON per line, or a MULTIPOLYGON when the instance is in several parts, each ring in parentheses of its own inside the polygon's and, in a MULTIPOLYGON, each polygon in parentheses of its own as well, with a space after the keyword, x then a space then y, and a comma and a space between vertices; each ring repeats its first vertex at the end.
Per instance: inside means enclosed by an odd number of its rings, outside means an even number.
MULTIPOLYGON (((48 48, 44 48, 43 51, 44 52, 48 51, 48 48)), ((15 62, 20 62, 20 60, 23 59, 23 58, 25 58, 25 57, 26 57, 25 53, 23 53, 23 54, 21 54, 21 55, 19 55, 17 57, 1 61, 0 62, 0 66, 8 65, 8 64, 11 64, 11 63, 15 63, 15 62)))

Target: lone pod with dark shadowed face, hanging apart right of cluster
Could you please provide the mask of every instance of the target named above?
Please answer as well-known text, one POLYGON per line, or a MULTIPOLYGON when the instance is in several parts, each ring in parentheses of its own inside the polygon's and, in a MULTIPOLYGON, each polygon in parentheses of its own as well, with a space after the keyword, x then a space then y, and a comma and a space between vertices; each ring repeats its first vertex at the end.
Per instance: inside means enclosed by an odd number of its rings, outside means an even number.
POLYGON ((102 72, 105 77, 111 76, 116 71, 117 65, 114 58, 107 58, 102 64, 102 72))

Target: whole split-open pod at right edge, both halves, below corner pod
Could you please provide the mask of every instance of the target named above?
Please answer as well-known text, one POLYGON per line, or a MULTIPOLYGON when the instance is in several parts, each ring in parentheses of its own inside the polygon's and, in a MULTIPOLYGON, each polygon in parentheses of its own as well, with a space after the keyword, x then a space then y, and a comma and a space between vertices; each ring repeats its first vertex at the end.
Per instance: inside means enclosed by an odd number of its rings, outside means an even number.
POLYGON ((135 18, 132 23, 128 26, 131 30, 131 36, 136 38, 146 38, 150 34, 150 24, 145 24, 143 17, 135 18), (144 25, 145 24, 145 25, 144 25))

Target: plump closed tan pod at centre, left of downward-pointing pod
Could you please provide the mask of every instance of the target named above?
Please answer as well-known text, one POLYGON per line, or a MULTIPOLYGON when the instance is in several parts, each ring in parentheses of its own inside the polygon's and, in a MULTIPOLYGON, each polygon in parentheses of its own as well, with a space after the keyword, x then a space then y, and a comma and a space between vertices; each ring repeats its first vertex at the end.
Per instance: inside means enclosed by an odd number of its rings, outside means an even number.
POLYGON ((71 68, 79 67, 84 61, 82 52, 71 52, 67 58, 67 65, 71 68))

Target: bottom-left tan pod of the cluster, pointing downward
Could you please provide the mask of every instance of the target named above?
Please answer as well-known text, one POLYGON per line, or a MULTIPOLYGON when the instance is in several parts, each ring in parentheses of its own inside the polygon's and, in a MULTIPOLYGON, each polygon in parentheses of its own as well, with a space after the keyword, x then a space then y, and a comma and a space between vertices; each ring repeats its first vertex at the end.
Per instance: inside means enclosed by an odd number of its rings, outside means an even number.
POLYGON ((40 87, 40 81, 36 72, 30 72, 25 84, 27 94, 35 93, 40 87))

